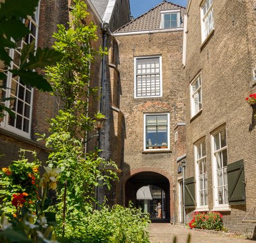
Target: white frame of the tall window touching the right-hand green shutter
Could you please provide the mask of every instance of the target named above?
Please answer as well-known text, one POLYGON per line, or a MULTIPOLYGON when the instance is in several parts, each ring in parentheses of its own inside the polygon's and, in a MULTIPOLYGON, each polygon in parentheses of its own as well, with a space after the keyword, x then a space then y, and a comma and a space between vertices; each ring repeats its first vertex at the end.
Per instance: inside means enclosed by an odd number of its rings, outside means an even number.
MULTIPOLYGON (((213 201, 214 201, 214 207, 212 210, 230 210, 230 207, 228 205, 228 198, 227 198, 227 203, 220 204, 218 201, 218 176, 217 176, 217 161, 216 161, 216 154, 221 153, 222 151, 226 150, 227 151, 227 164, 228 164, 228 150, 227 150, 227 129, 226 127, 221 127, 220 129, 217 129, 211 134, 211 147, 212 147, 212 182, 213 182, 213 201), (221 132, 225 131, 225 136, 226 136, 226 146, 221 147, 221 142, 220 142, 220 149, 214 150, 214 136, 219 134, 219 139, 220 139, 220 134, 221 132)), ((222 164, 222 157, 221 157, 221 164, 222 164)), ((224 169, 227 169, 227 166, 221 168, 222 171, 224 169)), ((224 175, 224 174, 223 174, 224 175)), ((224 176, 223 176, 224 178, 224 176)), ((223 179, 224 180, 224 179, 223 179)), ((226 178, 227 180, 227 178, 226 178)), ((228 184, 227 184, 228 186, 228 184)), ((225 184, 223 182, 222 187, 225 187, 225 184)), ((227 191, 227 197, 228 197, 228 191, 227 191)))

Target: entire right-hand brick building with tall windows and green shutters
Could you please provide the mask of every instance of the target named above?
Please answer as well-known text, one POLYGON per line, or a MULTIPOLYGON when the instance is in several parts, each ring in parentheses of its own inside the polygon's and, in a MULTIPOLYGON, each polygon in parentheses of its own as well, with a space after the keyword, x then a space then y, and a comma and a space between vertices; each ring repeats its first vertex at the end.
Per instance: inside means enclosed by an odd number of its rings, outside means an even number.
POLYGON ((187 222, 214 210, 252 237, 256 123, 245 98, 256 91, 255 1, 189 1, 185 22, 187 222))

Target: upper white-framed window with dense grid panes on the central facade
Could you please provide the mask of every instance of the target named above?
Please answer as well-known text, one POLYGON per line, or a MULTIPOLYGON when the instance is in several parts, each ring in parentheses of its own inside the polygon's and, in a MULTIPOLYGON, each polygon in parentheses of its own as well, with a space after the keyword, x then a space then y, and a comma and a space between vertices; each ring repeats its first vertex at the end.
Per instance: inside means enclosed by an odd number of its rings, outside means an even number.
POLYGON ((134 97, 161 97, 161 57, 135 58, 134 97))

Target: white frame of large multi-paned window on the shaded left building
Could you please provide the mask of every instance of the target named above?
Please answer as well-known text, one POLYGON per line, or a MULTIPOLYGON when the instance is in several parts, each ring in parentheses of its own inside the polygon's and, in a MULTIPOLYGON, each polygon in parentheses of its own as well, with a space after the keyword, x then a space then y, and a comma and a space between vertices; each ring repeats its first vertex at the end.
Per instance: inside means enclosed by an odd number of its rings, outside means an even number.
MULTIPOLYGON (((31 25, 33 24, 34 26, 36 26, 36 32, 35 32, 35 36, 32 34, 32 33, 29 33, 27 36, 30 36, 32 38, 35 39, 35 47, 37 47, 37 42, 38 42, 38 28, 39 28, 39 16, 40 16, 40 1, 38 1, 38 7, 36 8, 36 11, 35 11, 35 20, 32 19, 31 16, 28 16, 28 20, 29 20, 29 26, 28 28, 30 29, 31 25)), ((25 20, 23 20, 25 21, 25 20)), ((30 42, 28 42, 30 43, 30 42)), ((22 49, 22 46, 26 44, 25 42, 25 38, 22 38, 21 40, 21 43, 20 43, 20 48, 17 48, 17 49, 10 49, 10 52, 9 52, 9 55, 10 57, 13 59, 14 56, 15 56, 15 53, 16 54, 19 54, 20 55, 20 50, 22 49)), ((13 61, 11 61, 10 63, 10 69, 13 69, 13 68, 19 68, 19 66, 17 66, 13 61)), ((13 75, 11 72, 9 72, 7 70, 6 72, 6 87, 12 87, 12 82, 13 82, 13 75)), ((27 86, 26 85, 23 85, 23 84, 20 84, 19 81, 17 82, 17 88, 16 90, 19 91, 19 88, 22 87, 24 88, 24 91, 26 93, 26 91, 28 90, 27 86)), ((12 95, 11 96, 11 93, 12 93, 12 90, 10 88, 7 88, 6 90, 3 89, 6 93, 5 97, 15 97, 15 102, 17 103, 18 100, 20 100, 19 98, 19 94, 17 95, 12 95)), ((17 93, 16 91, 16 93, 17 93)), ((1 128, 5 129, 5 130, 8 130, 10 132, 13 132, 15 134, 18 134, 22 137, 27 137, 30 139, 30 136, 31 136, 31 120, 32 120, 32 110, 33 110, 33 88, 31 88, 31 97, 30 97, 30 102, 27 103, 26 100, 22 99, 21 101, 24 103, 23 104, 23 110, 24 111, 24 106, 25 105, 29 105, 29 117, 26 118, 26 120, 29 120, 29 123, 28 123, 28 132, 25 132, 24 130, 20 130, 16 127, 13 127, 12 125, 9 125, 8 124, 8 121, 10 119, 10 114, 8 114, 7 112, 5 112, 5 116, 4 116, 4 119, 3 121, 1 121, 0 125, 1 125, 1 128)), ((7 100, 6 102, 4 102, 4 105, 6 107, 10 107, 10 103, 11 101, 10 100, 7 100)), ((17 109, 17 104, 16 104, 16 109, 17 109)), ((14 113, 16 114, 16 111, 14 111, 14 113)), ((20 117, 22 117, 22 126, 23 126, 23 120, 25 119, 25 116, 24 114, 19 114, 20 117)), ((16 122, 16 121, 15 121, 16 122)))

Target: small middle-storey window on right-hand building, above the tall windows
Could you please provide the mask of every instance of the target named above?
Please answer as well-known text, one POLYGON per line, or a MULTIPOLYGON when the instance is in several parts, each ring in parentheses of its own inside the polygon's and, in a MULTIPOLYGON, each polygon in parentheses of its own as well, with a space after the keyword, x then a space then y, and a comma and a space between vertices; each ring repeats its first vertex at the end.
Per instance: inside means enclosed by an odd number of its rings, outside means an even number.
POLYGON ((190 85, 191 116, 195 116, 202 109, 201 75, 199 74, 190 85))

